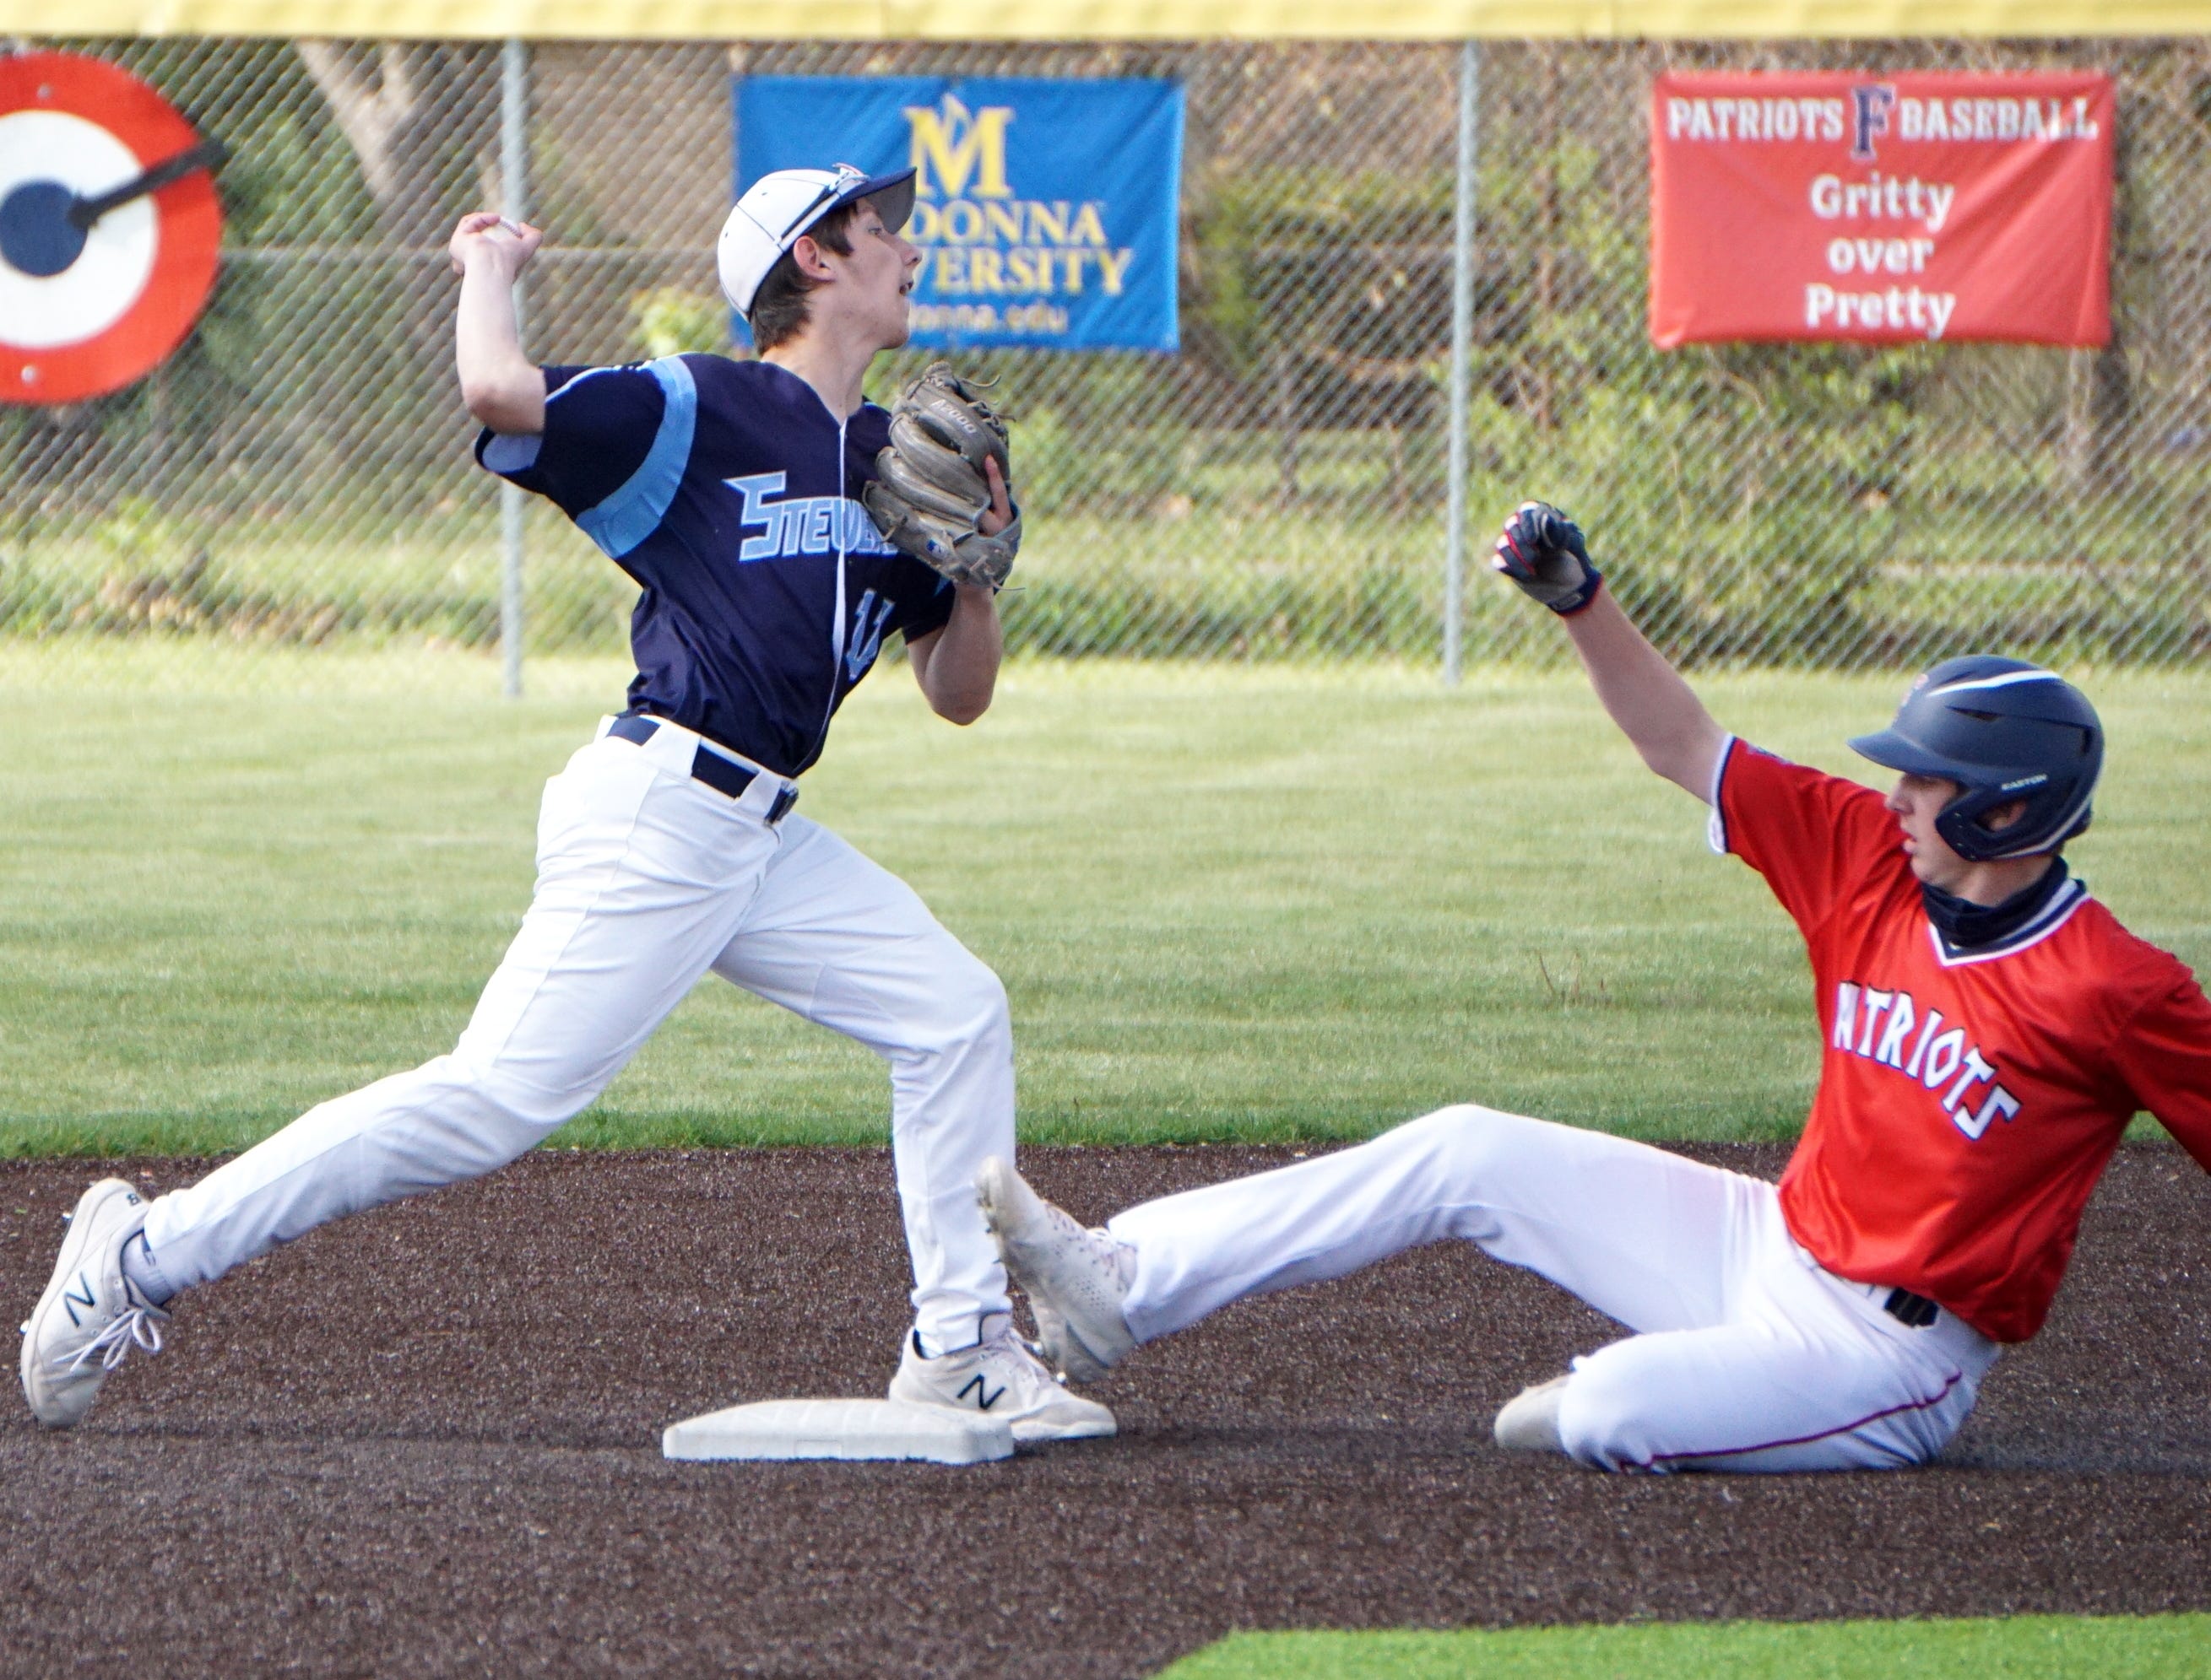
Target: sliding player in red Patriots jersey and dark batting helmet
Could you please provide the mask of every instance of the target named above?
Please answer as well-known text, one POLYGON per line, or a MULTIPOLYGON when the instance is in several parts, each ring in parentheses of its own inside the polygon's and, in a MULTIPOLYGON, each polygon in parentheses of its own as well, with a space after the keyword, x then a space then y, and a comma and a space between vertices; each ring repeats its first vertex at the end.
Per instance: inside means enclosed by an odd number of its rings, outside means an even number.
POLYGON ((1086 1231, 1004 1161, 977 1191, 1048 1359, 1097 1377, 1218 1306, 1461 1238, 1632 1335, 1497 1415, 1605 1470, 1932 1459, 2005 1342, 2041 1329, 2138 1110, 2211 1165, 2211 1004, 2058 849, 2103 727, 2063 679, 1952 659, 1851 745, 1884 798, 1736 741, 1526 504, 1497 568, 1565 621, 1643 760, 1711 805, 1811 953, 1820 1090, 1782 1183, 1486 1107, 1132 1207, 1086 1231))

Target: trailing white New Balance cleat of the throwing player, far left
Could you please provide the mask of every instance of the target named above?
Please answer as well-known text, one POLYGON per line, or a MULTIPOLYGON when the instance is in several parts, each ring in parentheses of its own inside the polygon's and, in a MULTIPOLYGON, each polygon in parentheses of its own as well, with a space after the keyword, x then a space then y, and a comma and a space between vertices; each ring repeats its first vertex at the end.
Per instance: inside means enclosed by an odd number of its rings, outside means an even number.
POLYGON ((46 1428, 93 1410, 99 1384, 133 1346, 161 1351, 168 1313, 124 1278, 124 1245, 146 1227, 146 1198, 102 1178, 77 1198, 53 1280, 22 1326, 22 1397, 46 1428))

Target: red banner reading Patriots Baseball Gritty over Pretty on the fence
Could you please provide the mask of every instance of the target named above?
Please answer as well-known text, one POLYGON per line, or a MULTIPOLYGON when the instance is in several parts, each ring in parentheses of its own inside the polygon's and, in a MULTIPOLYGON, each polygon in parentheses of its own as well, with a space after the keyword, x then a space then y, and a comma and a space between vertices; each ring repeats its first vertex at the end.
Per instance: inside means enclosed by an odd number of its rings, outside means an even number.
POLYGON ((2107 75, 1660 75, 1652 343, 2112 338, 2107 75))

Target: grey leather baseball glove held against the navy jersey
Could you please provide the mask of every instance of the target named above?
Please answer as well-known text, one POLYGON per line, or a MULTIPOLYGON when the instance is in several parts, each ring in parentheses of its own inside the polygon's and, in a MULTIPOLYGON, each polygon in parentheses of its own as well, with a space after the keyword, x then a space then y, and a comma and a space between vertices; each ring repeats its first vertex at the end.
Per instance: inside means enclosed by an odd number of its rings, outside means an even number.
POLYGON ((860 491, 869 515, 900 550, 955 584, 1004 588, 1021 550, 1021 519, 986 537, 991 511, 984 462, 997 462, 1006 493, 1006 422, 949 363, 931 363, 891 405, 891 442, 876 455, 880 477, 860 491))

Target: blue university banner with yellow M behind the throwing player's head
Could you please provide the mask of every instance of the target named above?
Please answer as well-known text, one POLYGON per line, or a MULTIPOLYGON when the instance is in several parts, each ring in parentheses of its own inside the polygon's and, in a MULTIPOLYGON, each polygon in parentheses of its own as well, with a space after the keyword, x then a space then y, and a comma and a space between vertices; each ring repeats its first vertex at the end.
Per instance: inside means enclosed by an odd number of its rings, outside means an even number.
MULTIPOLYGON (((918 170, 913 343, 1178 349, 1178 82, 741 75, 736 190, 918 170)), ((738 323, 743 325, 743 323, 738 323)))

